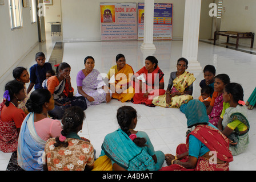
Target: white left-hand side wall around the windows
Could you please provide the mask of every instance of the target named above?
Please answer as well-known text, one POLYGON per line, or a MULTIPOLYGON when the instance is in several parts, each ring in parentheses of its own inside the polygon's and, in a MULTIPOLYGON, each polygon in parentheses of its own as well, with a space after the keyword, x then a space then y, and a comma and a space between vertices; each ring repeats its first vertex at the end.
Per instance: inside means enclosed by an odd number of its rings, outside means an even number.
POLYGON ((37 23, 31 24, 29 7, 22 7, 22 17, 23 27, 11 31, 8 1, 0 5, 0 80, 38 42, 37 23))

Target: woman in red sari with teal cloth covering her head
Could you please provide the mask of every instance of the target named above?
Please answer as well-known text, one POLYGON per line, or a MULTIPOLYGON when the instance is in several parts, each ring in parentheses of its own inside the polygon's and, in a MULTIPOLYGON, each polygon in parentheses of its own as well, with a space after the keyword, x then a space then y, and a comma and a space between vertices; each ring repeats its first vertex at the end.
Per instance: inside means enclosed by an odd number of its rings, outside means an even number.
POLYGON ((229 139, 209 122, 203 102, 189 101, 185 115, 187 127, 195 129, 187 135, 186 144, 179 144, 175 156, 166 154, 169 166, 161 171, 228 171, 233 161, 229 139))

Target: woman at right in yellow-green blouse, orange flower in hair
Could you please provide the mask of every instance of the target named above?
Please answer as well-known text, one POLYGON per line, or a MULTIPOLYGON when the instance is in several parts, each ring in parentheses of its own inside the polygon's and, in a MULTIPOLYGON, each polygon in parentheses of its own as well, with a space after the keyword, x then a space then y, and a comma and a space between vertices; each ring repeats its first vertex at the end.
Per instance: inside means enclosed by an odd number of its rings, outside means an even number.
POLYGON ((246 115, 246 106, 243 101, 243 88, 240 84, 230 83, 225 86, 224 102, 230 107, 225 110, 222 121, 222 133, 230 140, 229 150, 232 155, 244 152, 249 144, 249 121, 246 115))

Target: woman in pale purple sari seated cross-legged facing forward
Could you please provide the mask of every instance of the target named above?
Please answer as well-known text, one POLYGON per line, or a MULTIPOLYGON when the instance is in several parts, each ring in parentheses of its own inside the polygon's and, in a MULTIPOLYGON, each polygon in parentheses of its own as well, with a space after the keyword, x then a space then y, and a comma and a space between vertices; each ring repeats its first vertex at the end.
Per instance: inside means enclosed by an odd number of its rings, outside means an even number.
POLYGON ((85 69, 77 73, 77 90, 76 96, 86 98, 87 106, 98 105, 102 102, 110 102, 111 95, 105 82, 97 69, 94 69, 94 58, 85 57, 85 69))

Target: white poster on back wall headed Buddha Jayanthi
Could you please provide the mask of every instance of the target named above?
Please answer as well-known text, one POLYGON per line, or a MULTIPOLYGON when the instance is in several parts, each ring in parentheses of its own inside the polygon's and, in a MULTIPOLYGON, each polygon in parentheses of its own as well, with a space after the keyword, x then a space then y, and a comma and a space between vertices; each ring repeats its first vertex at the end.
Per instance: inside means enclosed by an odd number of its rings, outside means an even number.
POLYGON ((137 3, 101 3, 101 40, 137 40, 137 3))

